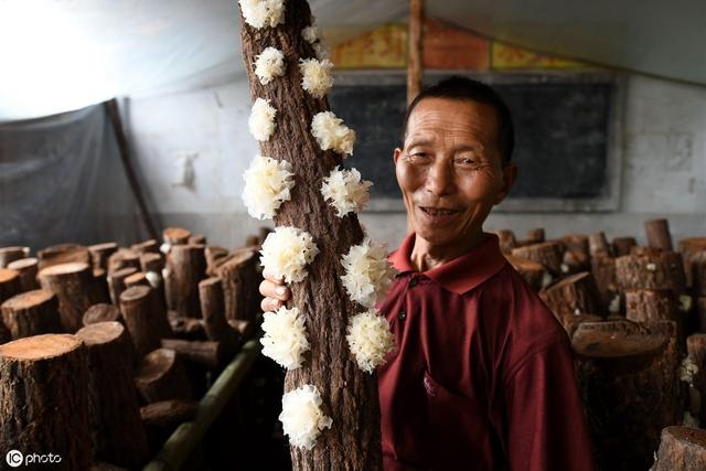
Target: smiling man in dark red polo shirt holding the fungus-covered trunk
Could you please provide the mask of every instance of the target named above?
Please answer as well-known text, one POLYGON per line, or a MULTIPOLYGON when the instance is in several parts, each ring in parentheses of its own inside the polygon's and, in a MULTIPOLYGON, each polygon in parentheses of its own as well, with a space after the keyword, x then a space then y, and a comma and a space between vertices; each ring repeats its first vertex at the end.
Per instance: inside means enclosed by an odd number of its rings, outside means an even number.
MULTIPOLYGON (((489 86, 422 92, 395 149, 414 232, 389 259, 397 351, 377 371, 386 470, 592 470, 568 338, 483 232, 510 192, 513 126, 489 86)), ((289 298, 268 279, 264 310, 289 298)))

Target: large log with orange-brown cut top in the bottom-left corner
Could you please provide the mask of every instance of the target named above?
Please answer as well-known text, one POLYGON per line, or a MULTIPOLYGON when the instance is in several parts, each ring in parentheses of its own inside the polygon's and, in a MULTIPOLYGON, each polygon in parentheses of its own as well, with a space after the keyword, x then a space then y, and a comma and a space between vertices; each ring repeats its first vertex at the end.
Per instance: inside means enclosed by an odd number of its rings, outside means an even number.
POLYGON ((87 352, 75 335, 0 345, 0 449, 60 456, 52 469, 88 469, 87 384, 87 352))

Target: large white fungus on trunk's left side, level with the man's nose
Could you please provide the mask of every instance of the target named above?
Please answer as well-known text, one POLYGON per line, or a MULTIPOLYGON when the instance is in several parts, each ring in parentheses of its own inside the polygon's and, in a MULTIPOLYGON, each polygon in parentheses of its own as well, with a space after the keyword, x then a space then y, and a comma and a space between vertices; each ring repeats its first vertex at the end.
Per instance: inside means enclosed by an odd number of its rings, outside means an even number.
POLYGON ((291 197, 295 186, 295 174, 291 163, 277 161, 269 157, 257 156, 243 175, 243 203, 250 216, 258 220, 270 220, 282 202, 291 197))

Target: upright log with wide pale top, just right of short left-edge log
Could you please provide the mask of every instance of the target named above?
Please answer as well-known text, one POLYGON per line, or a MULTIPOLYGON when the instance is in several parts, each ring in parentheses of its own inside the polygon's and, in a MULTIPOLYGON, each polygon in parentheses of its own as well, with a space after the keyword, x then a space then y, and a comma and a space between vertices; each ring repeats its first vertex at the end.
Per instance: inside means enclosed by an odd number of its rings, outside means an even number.
POLYGON ((106 302, 105 292, 93 277, 93 269, 85 263, 54 265, 40 271, 42 288, 58 298, 58 313, 66 332, 76 332, 83 325, 88 308, 106 302))

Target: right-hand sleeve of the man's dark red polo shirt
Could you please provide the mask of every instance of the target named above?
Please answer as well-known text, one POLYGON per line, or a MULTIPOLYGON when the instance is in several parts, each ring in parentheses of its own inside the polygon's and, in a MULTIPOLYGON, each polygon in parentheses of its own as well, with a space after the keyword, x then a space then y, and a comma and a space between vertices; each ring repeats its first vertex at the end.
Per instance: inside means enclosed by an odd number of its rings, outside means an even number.
POLYGON ((595 471, 567 339, 532 353, 505 384, 513 471, 595 471))

